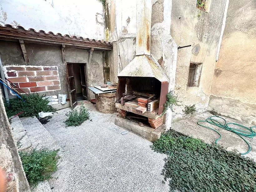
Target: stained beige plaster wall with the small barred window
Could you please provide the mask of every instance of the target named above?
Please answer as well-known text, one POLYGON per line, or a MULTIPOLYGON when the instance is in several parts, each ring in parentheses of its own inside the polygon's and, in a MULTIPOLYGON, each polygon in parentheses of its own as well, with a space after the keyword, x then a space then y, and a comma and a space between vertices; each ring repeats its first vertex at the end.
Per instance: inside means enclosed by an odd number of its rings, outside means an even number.
POLYGON ((175 95, 181 106, 175 107, 173 121, 184 117, 185 105, 196 104, 199 113, 207 110, 214 74, 215 57, 225 0, 212 1, 209 13, 196 8, 196 1, 172 0, 171 35, 178 46, 175 95), (195 54, 195 46, 200 47, 195 54), (187 88, 190 62, 203 63, 199 87, 187 88))

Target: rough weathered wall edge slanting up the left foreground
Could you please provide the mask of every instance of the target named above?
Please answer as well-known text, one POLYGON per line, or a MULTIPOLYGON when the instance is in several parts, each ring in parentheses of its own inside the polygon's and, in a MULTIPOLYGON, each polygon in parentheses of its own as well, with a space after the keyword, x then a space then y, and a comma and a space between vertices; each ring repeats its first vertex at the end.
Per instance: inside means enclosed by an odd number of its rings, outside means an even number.
POLYGON ((25 172, 22 168, 16 143, 6 116, 0 91, 0 165, 6 177, 6 191, 30 192, 25 172))

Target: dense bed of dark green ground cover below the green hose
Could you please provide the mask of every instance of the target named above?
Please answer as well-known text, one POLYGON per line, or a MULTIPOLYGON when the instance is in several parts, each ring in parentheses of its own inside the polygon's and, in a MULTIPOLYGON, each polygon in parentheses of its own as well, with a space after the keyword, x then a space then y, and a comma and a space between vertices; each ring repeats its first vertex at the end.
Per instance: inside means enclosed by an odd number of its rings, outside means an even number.
POLYGON ((256 191, 256 164, 219 145, 170 130, 151 147, 167 154, 162 175, 170 191, 256 191))

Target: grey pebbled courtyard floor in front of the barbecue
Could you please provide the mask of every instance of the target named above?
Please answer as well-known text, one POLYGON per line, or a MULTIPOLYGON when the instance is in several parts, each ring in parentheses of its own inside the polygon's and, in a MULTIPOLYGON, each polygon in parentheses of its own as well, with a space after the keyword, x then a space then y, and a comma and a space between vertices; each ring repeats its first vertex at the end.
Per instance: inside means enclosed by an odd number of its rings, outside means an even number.
MULTIPOLYGON (((116 114, 102 114, 85 103, 90 120, 66 127, 65 114, 57 111, 44 125, 62 146, 62 162, 49 180, 52 192, 169 191, 161 170, 166 155, 151 150, 152 143, 115 125, 116 114)), ((77 106, 79 107, 79 106, 77 106)))

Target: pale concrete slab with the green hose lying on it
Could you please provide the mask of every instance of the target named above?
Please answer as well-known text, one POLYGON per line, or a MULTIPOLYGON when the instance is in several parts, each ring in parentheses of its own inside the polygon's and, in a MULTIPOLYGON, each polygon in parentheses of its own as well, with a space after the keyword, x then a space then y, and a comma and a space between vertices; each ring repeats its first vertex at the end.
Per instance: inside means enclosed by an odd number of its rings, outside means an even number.
MULTIPOLYGON (((171 129, 176 130, 184 135, 192 136, 194 138, 199 138, 206 143, 214 143, 219 135, 210 129, 207 129, 202 126, 197 125, 197 121, 204 121, 206 118, 213 116, 210 113, 203 113, 200 115, 196 115, 189 119, 181 120, 172 124, 171 129)), ((227 123, 238 123, 244 126, 251 127, 253 125, 249 125, 247 123, 240 122, 238 120, 234 120, 228 117, 224 117, 227 123)), ((211 128, 216 129, 222 135, 222 139, 218 141, 218 144, 222 145, 229 151, 239 151, 240 153, 245 153, 248 150, 248 145, 242 140, 238 135, 232 133, 230 131, 221 129, 217 126, 210 125, 209 123, 204 123, 202 125, 209 126, 211 128)), ((256 130, 256 129, 255 129, 256 130)), ((250 157, 252 159, 256 159, 256 137, 254 139, 244 137, 249 144, 251 145, 251 151, 244 156, 250 157)))

